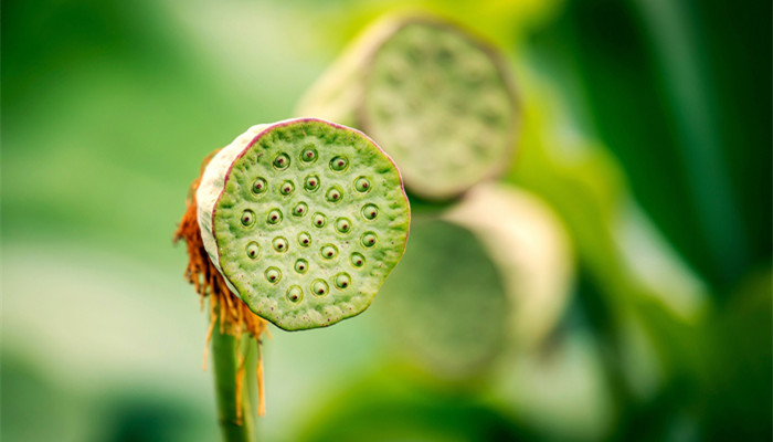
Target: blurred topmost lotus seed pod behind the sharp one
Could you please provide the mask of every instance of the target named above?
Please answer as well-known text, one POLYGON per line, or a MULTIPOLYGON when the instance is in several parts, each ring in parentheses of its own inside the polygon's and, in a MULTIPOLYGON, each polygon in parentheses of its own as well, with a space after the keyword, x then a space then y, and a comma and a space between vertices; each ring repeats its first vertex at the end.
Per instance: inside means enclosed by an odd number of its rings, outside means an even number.
MULTIPOLYGON (((396 161, 409 192, 432 200, 501 173, 519 118, 500 54, 456 24, 427 17, 371 27, 310 88, 297 114, 370 134, 396 161)), ((333 170, 346 167, 330 162, 333 170)), ((364 182, 356 189, 364 191, 364 182)))

